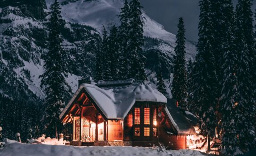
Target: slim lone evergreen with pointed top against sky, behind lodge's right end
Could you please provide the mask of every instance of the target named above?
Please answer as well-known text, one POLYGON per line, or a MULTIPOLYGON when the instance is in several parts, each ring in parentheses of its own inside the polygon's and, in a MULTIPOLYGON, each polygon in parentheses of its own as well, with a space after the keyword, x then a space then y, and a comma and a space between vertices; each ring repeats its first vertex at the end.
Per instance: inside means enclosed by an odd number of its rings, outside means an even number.
POLYGON ((179 19, 178 34, 176 35, 176 47, 174 57, 174 72, 172 80, 172 98, 177 100, 180 107, 187 108, 187 70, 185 60, 185 28, 183 18, 179 19))

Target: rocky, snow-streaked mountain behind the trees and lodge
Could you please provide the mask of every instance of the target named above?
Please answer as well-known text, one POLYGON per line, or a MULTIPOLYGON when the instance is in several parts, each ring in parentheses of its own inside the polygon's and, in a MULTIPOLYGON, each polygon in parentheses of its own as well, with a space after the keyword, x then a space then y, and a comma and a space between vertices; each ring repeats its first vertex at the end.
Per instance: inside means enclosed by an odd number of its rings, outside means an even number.
MULTIPOLYGON (((39 75, 43 73, 42 56, 47 52, 48 12, 54 0, 0 0, 0 94, 14 97, 13 88, 21 84, 25 92, 43 99, 39 75)), ((73 91, 78 79, 93 76, 95 53, 102 25, 119 25, 122 0, 60 0, 63 19, 63 48, 70 54, 67 82, 73 91), (95 43, 95 42, 93 42, 95 43)), ((144 54, 147 75, 155 83, 155 71, 162 66, 166 85, 170 85, 175 35, 143 13, 145 22, 144 54), (154 57, 152 57, 154 56, 154 57), (155 58, 155 59, 153 59, 155 58)), ((193 58, 195 45, 187 42, 187 58, 193 58)), ((168 90, 169 92, 169 90, 168 90)))

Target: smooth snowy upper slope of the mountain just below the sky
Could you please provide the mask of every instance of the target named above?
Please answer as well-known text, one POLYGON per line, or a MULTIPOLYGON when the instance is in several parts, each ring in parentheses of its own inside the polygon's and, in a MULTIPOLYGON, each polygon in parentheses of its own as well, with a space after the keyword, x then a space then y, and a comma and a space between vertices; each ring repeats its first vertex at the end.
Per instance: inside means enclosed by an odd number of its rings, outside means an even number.
MULTIPOLYGON (((54 0, 46 0, 49 7, 54 0)), ((119 25, 118 14, 122 8, 123 0, 60 0, 62 4, 62 15, 67 21, 84 23, 96 28, 101 32, 102 25, 107 28, 119 25)), ((167 41, 171 46, 163 44, 161 50, 173 54, 176 37, 174 34, 164 30, 164 26, 152 20, 143 12, 144 36, 158 38, 167 41), (168 46, 168 47, 166 47, 168 46)), ((190 41, 186 44, 187 58, 194 57, 196 48, 190 41)))

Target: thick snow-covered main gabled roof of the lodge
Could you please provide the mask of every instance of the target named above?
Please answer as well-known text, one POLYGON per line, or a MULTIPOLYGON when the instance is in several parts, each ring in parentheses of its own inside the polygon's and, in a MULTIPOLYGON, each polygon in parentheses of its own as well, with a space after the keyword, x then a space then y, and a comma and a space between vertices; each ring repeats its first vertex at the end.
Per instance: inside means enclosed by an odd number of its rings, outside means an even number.
POLYGON ((166 97, 150 84, 127 81, 100 82, 99 86, 84 83, 80 85, 75 95, 60 114, 60 119, 71 107, 72 103, 84 89, 107 119, 124 119, 135 101, 167 103, 166 97), (129 84, 129 85, 127 85, 129 84))

